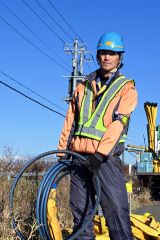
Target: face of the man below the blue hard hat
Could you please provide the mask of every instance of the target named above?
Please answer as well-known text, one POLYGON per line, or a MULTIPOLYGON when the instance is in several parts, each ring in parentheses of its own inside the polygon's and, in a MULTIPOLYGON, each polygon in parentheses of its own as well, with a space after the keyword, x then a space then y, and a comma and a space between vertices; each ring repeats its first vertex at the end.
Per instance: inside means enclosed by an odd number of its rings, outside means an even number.
POLYGON ((114 68, 118 67, 120 56, 114 51, 100 50, 98 53, 98 60, 101 69, 110 72, 114 68))

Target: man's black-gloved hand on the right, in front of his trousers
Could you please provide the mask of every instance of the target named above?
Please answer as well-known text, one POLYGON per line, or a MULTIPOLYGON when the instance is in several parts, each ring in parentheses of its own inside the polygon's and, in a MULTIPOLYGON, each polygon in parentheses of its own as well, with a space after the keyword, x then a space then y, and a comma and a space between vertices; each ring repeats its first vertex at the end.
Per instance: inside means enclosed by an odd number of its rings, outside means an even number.
POLYGON ((103 162, 103 156, 100 153, 94 153, 86 158, 85 166, 94 175, 98 173, 101 163, 103 162))

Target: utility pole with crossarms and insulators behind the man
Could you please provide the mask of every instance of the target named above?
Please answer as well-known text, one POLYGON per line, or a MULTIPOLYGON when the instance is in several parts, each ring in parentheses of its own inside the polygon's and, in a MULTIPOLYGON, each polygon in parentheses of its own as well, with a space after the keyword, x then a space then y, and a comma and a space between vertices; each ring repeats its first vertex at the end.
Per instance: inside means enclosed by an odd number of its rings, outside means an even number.
POLYGON ((64 76, 69 78, 68 86, 68 97, 64 100, 69 102, 72 99, 73 93, 76 86, 83 81, 83 65, 84 62, 92 61, 91 59, 86 59, 86 54, 90 51, 86 50, 86 45, 84 43, 80 44, 78 39, 74 40, 73 44, 65 44, 64 50, 66 54, 72 55, 72 72, 71 76, 64 76))

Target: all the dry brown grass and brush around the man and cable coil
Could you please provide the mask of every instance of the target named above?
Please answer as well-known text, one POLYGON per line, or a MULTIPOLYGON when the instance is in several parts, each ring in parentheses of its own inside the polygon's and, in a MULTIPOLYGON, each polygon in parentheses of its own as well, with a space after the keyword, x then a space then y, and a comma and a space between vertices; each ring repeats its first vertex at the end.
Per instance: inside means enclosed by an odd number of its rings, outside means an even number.
MULTIPOLYGON (((29 157, 26 158, 27 160, 29 157)), ((25 159, 25 161, 26 161, 25 159)), ((15 162, 14 154, 10 149, 5 149, 5 154, 0 158, 0 171, 19 171, 25 161, 18 160, 15 162)), ((51 163, 50 163, 51 164, 51 163)), ((27 171, 41 172, 49 168, 50 164, 46 165, 43 161, 36 163, 27 171)), ((52 162, 53 164, 53 162, 52 162)), ((24 234, 26 239, 38 240, 38 227, 35 219, 35 201, 37 190, 41 178, 21 178, 19 181, 14 198, 14 217, 17 222, 18 229, 24 234)), ((7 177, 0 178, 0 240, 18 240, 15 231, 11 227, 11 218, 9 210, 9 193, 13 182, 8 181, 7 177)), ((136 191, 136 184, 133 187, 132 194, 132 210, 142 206, 151 204, 151 195, 148 189, 141 193, 136 191)), ((73 227, 73 218, 69 207, 69 192, 70 192, 70 178, 66 176, 60 181, 57 188, 57 207, 58 218, 62 229, 69 229, 73 227)))

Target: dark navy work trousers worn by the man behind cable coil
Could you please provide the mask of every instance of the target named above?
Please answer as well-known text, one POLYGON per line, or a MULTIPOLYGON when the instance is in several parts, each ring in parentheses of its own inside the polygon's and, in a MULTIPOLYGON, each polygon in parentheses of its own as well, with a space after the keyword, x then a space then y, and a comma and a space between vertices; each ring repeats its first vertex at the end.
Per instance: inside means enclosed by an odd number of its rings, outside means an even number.
MULTIPOLYGON (((106 158, 99 169, 101 184, 100 205, 111 240, 133 240, 129 218, 128 197, 122 170, 117 166, 119 157, 106 158), (117 159, 118 158, 118 159, 117 159)), ((92 174, 79 162, 73 161, 71 171, 70 204, 74 217, 74 230, 87 221, 95 204, 92 174)), ((93 221, 77 240, 94 240, 93 221)))

